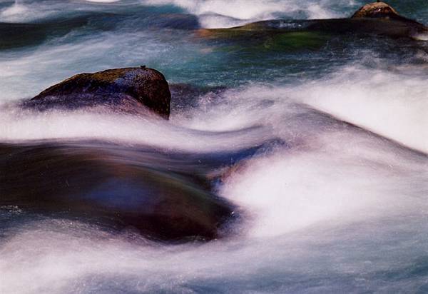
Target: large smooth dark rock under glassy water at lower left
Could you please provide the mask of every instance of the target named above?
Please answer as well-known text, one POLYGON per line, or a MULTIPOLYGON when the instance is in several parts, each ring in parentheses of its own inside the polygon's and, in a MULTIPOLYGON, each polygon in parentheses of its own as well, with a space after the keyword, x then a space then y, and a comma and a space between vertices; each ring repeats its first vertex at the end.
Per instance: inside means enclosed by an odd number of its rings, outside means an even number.
POLYGON ((106 143, 3 143, 0 206, 136 228, 168 242, 221 237, 233 206, 180 163, 185 165, 161 153, 106 143))

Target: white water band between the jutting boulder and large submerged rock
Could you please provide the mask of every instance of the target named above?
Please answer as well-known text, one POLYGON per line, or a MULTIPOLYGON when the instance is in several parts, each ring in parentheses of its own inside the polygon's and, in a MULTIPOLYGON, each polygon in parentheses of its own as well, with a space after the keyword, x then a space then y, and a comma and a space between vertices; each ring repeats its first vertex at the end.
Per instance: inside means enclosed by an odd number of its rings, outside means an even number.
POLYGON ((270 138, 263 128, 223 133, 181 128, 161 118, 141 118, 88 111, 21 112, 14 108, 2 113, 0 141, 98 138, 145 144, 159 148, 203 152, 233 151, 257 146, 270 138))

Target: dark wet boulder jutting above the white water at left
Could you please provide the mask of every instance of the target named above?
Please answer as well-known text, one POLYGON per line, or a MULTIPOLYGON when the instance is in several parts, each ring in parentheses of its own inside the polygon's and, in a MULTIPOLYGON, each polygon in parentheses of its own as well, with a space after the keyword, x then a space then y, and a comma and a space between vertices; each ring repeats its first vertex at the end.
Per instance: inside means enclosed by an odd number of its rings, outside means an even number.
POLYGON ((129 113, 149 109, 168 118, 170 91, 163 74, 154 69, 108 69, 72 76, 42 91, 24 106, 39 110, 101 106, 129 113))

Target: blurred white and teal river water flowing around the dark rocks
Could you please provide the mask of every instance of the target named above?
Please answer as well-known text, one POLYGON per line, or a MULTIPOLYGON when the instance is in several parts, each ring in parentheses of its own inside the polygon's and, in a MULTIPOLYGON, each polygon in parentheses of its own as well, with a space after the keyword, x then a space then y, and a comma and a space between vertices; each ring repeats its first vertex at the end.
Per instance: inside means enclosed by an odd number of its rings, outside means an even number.
MULTIPOLYGON (((0 0, 0 143, 120 150, 121 164, 211 179, 240 215, 224 238, 172 245, 1 206, 0 293, 427 293, 427 42, 200 34, 362 4, 0 0), (18 106, 73 74, 141 65, 170 83, 169 121, 18 106)), ((428 24, 427 1, 389 4, 428 24)))

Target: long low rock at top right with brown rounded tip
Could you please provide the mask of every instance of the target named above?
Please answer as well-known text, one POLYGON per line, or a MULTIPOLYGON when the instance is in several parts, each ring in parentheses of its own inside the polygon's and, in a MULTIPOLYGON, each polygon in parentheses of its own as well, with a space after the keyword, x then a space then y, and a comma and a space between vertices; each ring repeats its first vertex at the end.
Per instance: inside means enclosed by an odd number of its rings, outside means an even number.
MULTIPOLYGON (((235 39, 263 41, 281 34, 282 41, 292 44, 317 43, 314 34, 362 34, 381 35, 392 38, 426 39, 428 28, 412 19, 400 16, 384 2, 362 6, 351 18, 308 19, 308 20, 267 20, 228 29, 201 29, 197 36, 204 39, 235 39), (301 33, 299 35, 292 35, 301 33), (313 34, 312 34, 313 33, 313 34), (314 39, 315 37, 315 39, 314 39)), ((320 41, 322 42, 322 36, 320 41)), ((306 48, 307 46, 302 46, 306 48)))

